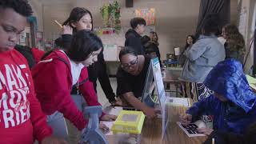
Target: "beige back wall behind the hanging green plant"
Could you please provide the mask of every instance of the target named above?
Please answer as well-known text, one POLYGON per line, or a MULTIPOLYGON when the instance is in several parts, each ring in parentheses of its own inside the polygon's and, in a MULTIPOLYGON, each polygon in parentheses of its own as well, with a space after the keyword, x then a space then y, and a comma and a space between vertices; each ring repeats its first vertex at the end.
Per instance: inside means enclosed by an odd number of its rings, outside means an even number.
MULTIPOLYGON (((37 0, 32 0, 37 1, 37 0)), ((237 19, 237 0, 231 1, 231 21, 237 19)), ((54 2, 54 1, 53 1, 54 2)), ((74 6, 82 6, 89 9, 94 17, 94 26, 102 26, 102 18, 99 13, 100 7, 105 2, 113 0, 76 0, 69 4, 48 2, 42 7, 43 30, 45 38, 55 38, 60 33, 54 19, 64 22, 70 10, 74 6)), ((134 0, 133 8, 126 8, 125 0, 118 1, 121 5, 122 26, 129 26, 130 18, 134 17, 136 8, 156 9, 156 31, 159 36, 160 52, 162 59, 166 59, 166 53, 173 53, 174 46, 184 46, 187 34, 194 34, 198 21, 200 0, 134 0)))

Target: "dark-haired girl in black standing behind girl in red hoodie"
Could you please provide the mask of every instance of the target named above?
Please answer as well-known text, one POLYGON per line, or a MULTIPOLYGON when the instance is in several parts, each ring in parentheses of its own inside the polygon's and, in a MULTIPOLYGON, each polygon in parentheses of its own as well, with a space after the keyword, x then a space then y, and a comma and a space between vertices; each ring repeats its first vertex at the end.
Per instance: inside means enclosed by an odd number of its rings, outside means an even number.
MULTIPOLYGON (((62 38, 55 40, 58 46, 63 49, 68 49, 70 47, 70 42, 72 40, 72 34, 76 33, 78 30, 93 30, 93 17, 89 10, 85 8, 76 7, 71 13, 70 17, 63 23, 63 34, 62 38), (87 15, 87 17, 86 17, 87 15), (85 18, 82 18, 84 17, 85 18), (82 23, 79 23, 82 21, 82 23)), ((98 54, 98 62, 88 67, 89 80, 94 83, 94 90, 97 92, 97 79, 102 86, 102 90, 106 94, 106 98, 109 100, 110 104, 113 106, 121 105, 121 102, 117 102, 115 99, 114 91, 110 85, 110 78, 106 73, 106 62, 103 56, 103 49, 100 54, 98 54)), ((76 94, 77 90, 74 86, 72 94, 76 94)))

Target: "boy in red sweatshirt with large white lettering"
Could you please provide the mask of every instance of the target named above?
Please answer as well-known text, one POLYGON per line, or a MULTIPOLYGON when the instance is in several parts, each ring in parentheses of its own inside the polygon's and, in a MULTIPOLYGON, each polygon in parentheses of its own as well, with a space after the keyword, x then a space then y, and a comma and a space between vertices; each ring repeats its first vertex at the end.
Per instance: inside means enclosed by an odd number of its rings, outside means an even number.
POLYGON ((34 94, 26 59, 14 46, 32 9, 26 0, 0 1, 0 143, 62 143, 51 137, 34 94))

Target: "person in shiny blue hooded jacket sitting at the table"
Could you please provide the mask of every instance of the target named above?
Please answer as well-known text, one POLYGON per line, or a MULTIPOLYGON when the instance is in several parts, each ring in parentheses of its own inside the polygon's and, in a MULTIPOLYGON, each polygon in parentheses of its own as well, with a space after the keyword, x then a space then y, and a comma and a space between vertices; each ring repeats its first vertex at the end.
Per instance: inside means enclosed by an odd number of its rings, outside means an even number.
MULTIPOLYGON (((250 89, 242 65, 234 59, 226 59, 207 75, 204 84, 214 94, 194 103, 181 115, 182 123, 196 121, 203 113, 214 116, 214 130, 243 134, 256 121, 256 95, 250 89)), ((199 129, 211 134, 209 128, 199 129)))

